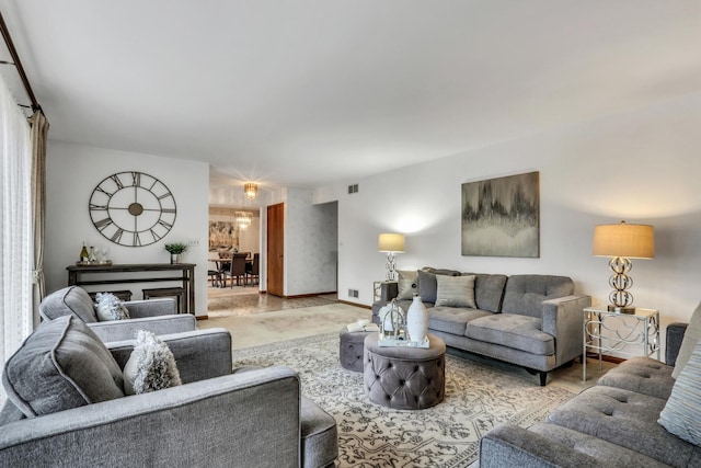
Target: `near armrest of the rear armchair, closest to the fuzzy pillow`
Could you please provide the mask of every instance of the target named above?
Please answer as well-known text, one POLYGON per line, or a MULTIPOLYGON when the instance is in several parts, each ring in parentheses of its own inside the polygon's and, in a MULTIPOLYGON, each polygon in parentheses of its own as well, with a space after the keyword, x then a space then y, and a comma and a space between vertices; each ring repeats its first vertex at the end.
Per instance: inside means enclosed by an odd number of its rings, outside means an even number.
POLYGON ((103 342, 133 340, 138 330, 147 330, 156 334, 181 333, 194 331, 197 319, 189 313, 145 317, 140 319, 112 320, 88 323, 103 342))

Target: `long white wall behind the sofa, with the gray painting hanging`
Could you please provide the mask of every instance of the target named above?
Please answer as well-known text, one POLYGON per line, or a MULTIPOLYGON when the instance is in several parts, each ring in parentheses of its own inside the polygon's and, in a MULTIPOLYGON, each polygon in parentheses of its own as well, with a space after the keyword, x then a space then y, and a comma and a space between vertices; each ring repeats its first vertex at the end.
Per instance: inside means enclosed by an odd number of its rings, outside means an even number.
MULTIPOLYGON (((586 124, 562 127, 317 191, 338 199, 338 290, 369 305, 382 279, 380 232, 406 235, 398 267, 571 276, 578 293, 608 304, 608 260, 591 255, 597 224, 651 224, 653 260, 633 260, 639 307, 663 324, 688 320, 701 299, 701 94, 586 124), (462 256, 461 184, 540 171, 540 258, 462 256), (347 184, 359 183, 348 195, 347 184)), ((469 129, 466 129, 469 132, 469 129)))

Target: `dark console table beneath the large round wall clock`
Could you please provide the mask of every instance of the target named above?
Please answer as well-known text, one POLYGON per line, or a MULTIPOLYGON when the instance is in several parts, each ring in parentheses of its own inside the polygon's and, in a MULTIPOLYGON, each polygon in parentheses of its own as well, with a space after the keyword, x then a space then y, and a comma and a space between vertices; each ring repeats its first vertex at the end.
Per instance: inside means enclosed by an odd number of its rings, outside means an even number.
POLYGON ((186 312, 195 313, 195 264, 194 263, 135 263, 112 265, 70 265, 68 270, 69 286, 90 286, 128 283, 181 282, 185 290, 186 312), (154 272, 172 272, 173 275, 152 275, 154 272), (139 273, 138 277, 119 277, 115 273, 139 273), (145 274, 146 273, 146 274, 145 274), (177 276, 174 274, 179 273, 177 276), (96 276, 110 274, 112 277, 97 279, 96 276), (83 275, 88 275, 85 277, 83 275))

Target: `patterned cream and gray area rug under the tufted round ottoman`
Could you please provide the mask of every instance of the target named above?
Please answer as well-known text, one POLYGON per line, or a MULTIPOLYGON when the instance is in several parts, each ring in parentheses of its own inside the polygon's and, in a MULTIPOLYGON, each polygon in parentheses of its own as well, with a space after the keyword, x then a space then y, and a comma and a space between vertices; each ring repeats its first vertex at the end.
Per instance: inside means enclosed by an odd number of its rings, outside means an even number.
POLYGON ((503 422, 527 427, 574 393, 446 355, 446 398, 421 411, 391 410, 365 396, 363 374, 338 364, 338 333, 234 350, 234 367, 286 365, 302 392, 338 424, 338 468, 468 467, 479 441, 503 422))

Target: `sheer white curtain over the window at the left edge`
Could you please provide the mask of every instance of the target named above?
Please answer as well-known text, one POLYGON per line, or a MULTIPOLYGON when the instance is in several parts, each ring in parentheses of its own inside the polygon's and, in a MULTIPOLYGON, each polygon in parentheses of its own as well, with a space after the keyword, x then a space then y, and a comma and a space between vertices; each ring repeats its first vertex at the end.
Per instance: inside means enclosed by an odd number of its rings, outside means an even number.
MULTIPOLYGON (((0 77, 0 363, 33 330, 32 140, 26 117, 0 77)), ((4 395, 0 393, 0 399, 4 395)))

